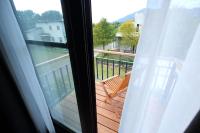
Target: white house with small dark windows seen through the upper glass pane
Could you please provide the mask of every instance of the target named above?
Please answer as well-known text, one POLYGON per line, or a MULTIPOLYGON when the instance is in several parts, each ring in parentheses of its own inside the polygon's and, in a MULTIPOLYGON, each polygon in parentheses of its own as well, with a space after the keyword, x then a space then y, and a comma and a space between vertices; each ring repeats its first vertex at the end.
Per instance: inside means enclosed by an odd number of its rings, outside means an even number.
POLYGON ((25 31, 28 40, 47 42, 66 42, 65 28, 63 21, 38 22, 35 28, 25 31))

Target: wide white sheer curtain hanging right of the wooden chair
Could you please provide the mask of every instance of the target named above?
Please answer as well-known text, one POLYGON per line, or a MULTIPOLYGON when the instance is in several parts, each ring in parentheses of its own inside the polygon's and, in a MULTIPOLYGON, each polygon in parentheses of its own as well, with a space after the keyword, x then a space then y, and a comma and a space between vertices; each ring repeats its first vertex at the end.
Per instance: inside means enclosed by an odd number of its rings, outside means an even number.
POLYGON ((200 0, 149 0, 120 133, 182 133, 200 109, 200 0))

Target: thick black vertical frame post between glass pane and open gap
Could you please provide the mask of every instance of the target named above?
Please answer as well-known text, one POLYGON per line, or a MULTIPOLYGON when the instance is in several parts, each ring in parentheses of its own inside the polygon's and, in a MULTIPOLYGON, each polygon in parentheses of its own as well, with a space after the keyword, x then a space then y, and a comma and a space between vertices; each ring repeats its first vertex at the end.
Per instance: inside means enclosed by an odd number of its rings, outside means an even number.
POLYGON ((61 0, 61 5, 82 132, 97 133, 91 1, 61 0))

